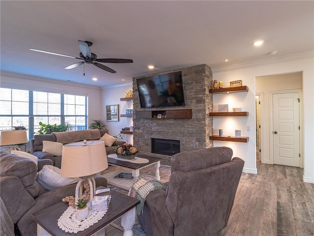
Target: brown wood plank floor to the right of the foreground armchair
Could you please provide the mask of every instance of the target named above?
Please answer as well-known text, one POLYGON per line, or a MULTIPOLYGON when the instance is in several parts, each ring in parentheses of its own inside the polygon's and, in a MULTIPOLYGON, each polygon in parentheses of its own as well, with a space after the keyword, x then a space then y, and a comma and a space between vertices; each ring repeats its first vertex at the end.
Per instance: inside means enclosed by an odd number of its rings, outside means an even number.
POLYGON ((314 184, 303 169, 257 163, 257 175, 242 173, 219 236, 314 236, 314 184))

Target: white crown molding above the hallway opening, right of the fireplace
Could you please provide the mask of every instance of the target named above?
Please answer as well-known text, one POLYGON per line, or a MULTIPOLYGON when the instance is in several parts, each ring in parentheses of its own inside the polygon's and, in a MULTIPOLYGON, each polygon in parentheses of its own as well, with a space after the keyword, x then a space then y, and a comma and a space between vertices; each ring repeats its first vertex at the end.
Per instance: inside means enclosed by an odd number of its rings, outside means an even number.
POLYGON ((233 65, 213 67, 211 68, 211 70, 213 73, 219 73, 219 72, 247 69, 247 68, 253 68, 253 67, 258 67, 258 66, 271 65, 275 63, 283 63, 283 62, 311 59, 311 58, 314 58, 314 51, 291 54, 288 56, 273 57, 270 59, 254 60, 254 61, 238 63, 238 64, 233 64, 233 65))

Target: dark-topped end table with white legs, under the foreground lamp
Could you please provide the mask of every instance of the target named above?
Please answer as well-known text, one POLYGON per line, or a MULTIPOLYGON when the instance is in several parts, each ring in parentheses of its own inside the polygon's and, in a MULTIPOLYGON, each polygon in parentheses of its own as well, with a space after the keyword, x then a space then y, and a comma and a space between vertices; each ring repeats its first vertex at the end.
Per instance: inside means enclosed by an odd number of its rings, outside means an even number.
POLYGON ((123 236, 132 236, 132 227, 135 223, 135 207, 139 200, 122 193, 110 190, 111 200, 105 216, 84 231, 78 233, 66 233, 58 227, 57 220, 69 207, 68 203, 60 202, 51 207, 32 214, 37 223, 37 236, 105 236, 105 227, 121 217, 121 225, 124 228, 123 236))

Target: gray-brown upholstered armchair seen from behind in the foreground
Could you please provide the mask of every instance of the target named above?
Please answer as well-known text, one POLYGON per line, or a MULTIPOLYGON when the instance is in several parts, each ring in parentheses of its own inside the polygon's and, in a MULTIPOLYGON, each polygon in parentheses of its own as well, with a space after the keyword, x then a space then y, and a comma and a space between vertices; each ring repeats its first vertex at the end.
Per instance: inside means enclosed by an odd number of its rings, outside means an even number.
POLYGON ((148 236, 214 236, 227 226, 244 161, 227 147, 171 158, 167 190, 152 191, 138 221, 148 236))

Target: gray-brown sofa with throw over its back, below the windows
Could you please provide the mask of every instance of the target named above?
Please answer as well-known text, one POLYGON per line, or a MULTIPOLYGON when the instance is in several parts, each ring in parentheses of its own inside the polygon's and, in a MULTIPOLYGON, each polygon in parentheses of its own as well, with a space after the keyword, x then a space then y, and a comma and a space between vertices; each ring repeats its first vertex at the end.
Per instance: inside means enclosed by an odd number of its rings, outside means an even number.
MULTIPOLYGON (((76 131, 68 131, 62 132, 64 137, 58 140, 55 134, 37 134, 34 135, 34 139, 30 140, 30 152, 32 155, 37 156, 38 159, 50 159, 53 162, 53 165, 61 168, 61 158, 62 156, 53 156, 51 153, 43 152, 43 141, 52 141, 59 142, 62 144, 69 144, 78 141, 86 140, 99 140, 105 133, 108 134, 107 129, 101 130, 76 130, 76 131)), ((60 134, 60 133, 59 133, 60 134)), ((106 153, 112 154, 114 153, 114 148, 117 146, 124 144, 124 141, 116 140, 111 147, 105 147, 106 153)))

